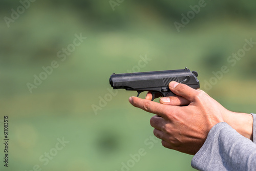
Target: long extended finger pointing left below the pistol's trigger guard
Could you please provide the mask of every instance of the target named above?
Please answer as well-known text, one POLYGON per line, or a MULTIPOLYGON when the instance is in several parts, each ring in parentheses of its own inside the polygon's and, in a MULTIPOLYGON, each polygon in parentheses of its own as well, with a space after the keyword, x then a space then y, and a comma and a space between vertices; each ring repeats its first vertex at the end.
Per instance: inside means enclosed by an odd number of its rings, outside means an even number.
POLYGON ((167 115, 170 115, 170 111, 175 110, 174 108, 179 107, 179 106, 164 105, 155 101, 145 100, 138 97, 130 97, 129 102, 137 108, 140 108, 146 112, 157 114, 164 118, 166 118, 167 115))

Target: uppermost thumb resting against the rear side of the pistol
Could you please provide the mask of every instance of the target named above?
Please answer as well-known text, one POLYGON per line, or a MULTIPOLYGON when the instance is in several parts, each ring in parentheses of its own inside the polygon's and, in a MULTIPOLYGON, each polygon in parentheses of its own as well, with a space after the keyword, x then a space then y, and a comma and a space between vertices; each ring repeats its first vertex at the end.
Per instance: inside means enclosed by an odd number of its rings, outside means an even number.
POLYGON ((186 84, 178 83, 175 81, 172 81, 169 83, 169 89, 174 94, 177 94, 178 96, 182 96, 189 101, 193 101, 199 93, 198 90, 190 88, 186 84))

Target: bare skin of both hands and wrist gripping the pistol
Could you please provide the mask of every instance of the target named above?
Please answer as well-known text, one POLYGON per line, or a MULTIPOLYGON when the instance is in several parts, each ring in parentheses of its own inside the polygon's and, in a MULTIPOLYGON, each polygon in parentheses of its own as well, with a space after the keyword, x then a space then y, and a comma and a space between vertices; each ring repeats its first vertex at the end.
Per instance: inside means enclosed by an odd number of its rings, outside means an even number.
POLYGON ((172 81, 169 89, 177 96, 162 97, 160 103, 151 101, 151 93, 145 99, 129 98, 135 107, 156 114, 150 123, 155 128, 154 135, 162 139, 164 147, 195 155, 212 126, 220 122, 228 123, 241 135, 252 140, 251 114, 231 112, 204 91, 185 84, 172 81))

